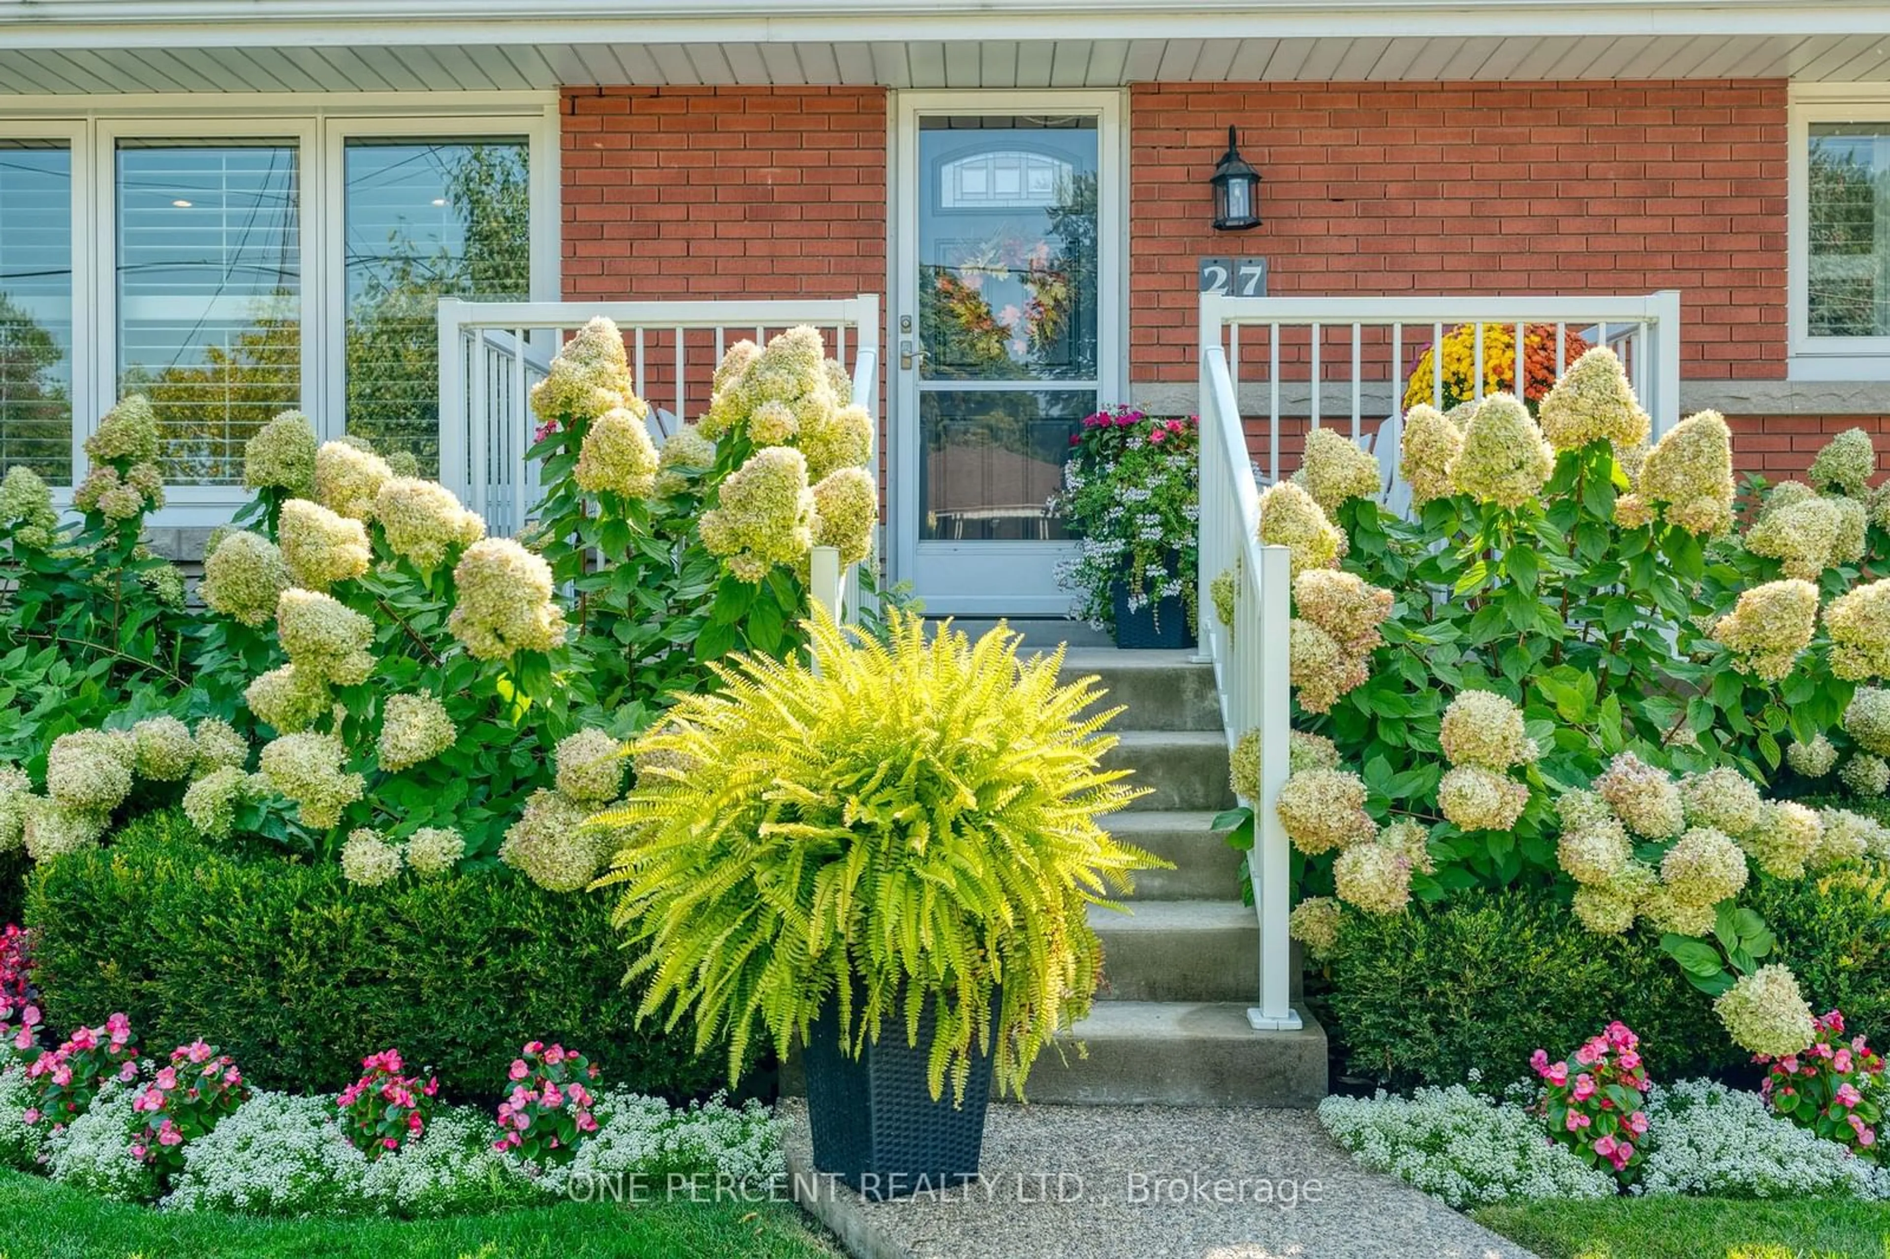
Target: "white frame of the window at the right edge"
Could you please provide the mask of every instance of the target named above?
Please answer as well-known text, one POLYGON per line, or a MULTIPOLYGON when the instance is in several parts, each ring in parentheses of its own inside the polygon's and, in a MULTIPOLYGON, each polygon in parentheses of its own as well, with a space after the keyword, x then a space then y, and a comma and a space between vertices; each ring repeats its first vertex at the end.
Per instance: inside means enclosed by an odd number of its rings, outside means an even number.
POLYGON ((1890 85, 1799 83, 1786 113, 1786 295, 1790 380, 1890 380, 1890 336, 1811 335, 1811 127, 1882 125, 1890 132, 1890 85))

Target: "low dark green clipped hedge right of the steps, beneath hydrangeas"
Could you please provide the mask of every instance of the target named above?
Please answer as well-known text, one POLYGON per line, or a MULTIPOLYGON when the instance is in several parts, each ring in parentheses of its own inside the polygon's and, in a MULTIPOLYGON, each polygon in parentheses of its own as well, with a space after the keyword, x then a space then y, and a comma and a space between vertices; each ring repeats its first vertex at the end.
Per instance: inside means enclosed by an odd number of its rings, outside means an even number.
MULTIPOLYGON (((1890 1042, 1890 875, 1761 879, 1744 898, 1778 936, 1813 1008, 1890 1042)), ((1537 1047, 1571 1053, 1610 1019, 1641 1034, 1656 1079, 1748 1072, 1710 998, 1648 932, 1595 936, 1546 892, 1503 890, 1393 917, 1348 911, 1327 960, 1329 1030, 1349 1074, 1408 1087, 1501 1087, 1537 1047)))

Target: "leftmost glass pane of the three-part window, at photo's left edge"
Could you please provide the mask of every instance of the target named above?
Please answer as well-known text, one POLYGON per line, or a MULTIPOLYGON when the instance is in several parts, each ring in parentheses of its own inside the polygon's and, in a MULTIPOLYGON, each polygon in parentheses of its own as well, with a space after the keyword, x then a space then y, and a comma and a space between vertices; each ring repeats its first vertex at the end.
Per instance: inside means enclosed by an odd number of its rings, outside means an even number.
POLYGON ((0 474, 72 484, 72 149, 0 142, 0 474))

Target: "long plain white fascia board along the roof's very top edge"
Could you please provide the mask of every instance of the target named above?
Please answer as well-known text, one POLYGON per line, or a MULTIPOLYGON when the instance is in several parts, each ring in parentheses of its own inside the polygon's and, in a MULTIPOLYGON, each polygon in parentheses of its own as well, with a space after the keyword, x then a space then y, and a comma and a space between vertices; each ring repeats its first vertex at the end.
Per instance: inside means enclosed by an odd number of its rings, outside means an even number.
POLYGON ((8 47, 745 43, 818 40, 1404 36, 1877 36, 1881 0, 36 0, 0 4, 8 47), (391 11, 397 9, 397 11, 391 11))

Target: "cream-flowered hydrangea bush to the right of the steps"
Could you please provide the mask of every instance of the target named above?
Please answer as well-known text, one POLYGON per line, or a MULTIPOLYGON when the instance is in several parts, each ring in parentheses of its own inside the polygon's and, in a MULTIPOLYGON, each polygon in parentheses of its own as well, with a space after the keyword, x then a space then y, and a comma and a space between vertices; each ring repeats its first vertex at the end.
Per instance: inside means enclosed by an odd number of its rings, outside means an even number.
MULTIPOLYGON (((1589 930, 1673 953, 1739 1043, 1784 1053, 1809 1042, 1803 996, 1760 962, 1763 923, 1727 913, 1758 879, 1890 856, 1869 817, 1796 800, 1822 775, 1890 781, 1875 454, 1841 435, 1811 484, 1741 499, 1718 414, 1650 427, 1595 348, 1531 405, 1412 405, 1410 518, 1351 442, 1308 444, 1259 533, 1293 556, 1295 724, 1338 754, 1295 769, 1280 817, 1315 907, 1554 887, 1589 930)), ((1332 928, 1297 919, 1315 949, 1332 928)))

